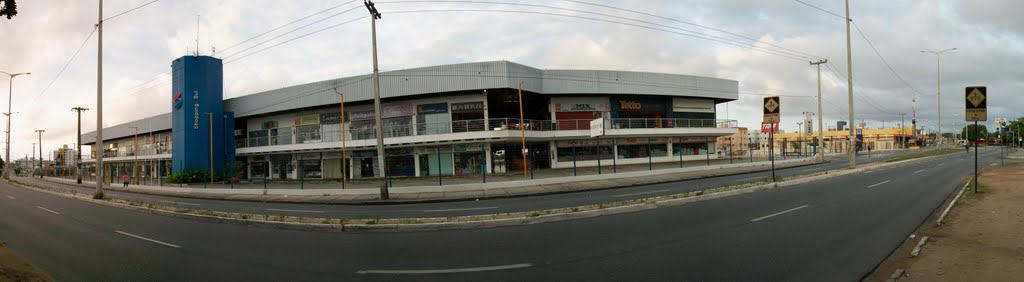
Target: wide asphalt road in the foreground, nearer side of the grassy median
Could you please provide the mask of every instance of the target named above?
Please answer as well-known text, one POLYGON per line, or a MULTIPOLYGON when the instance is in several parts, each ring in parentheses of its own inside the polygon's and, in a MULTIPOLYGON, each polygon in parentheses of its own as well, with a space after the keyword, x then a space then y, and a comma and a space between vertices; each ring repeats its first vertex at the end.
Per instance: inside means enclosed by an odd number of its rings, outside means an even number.
MULTIPOLYGON (((981 154, 986 165, 998 150, 981 154)), ((75 281, 849 281, 902 242, 972 165, 973 154, 951 154, 640 212, 384 234, 194 221, 0 184, 0 240, 75 281)))

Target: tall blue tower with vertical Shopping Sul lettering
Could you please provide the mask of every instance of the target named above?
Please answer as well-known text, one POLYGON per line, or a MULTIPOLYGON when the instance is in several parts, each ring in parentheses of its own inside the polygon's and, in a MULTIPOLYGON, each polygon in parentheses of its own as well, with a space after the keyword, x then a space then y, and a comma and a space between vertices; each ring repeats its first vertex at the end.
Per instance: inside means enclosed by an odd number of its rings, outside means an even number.
POLYGON ((185 55, 174 59, 171 70, 171 170, 212 167, 221 174, 224 163, 234 162, 234 115, 224 112, 223 63, 185 55))

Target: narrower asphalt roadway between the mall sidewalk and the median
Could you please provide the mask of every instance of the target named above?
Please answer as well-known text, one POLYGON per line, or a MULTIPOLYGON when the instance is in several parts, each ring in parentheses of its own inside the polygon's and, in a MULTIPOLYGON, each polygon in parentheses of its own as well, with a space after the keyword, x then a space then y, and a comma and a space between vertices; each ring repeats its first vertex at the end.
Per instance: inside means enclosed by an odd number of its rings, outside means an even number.
MULTIPOLYGON (((870 157, 862 154, 857 157, 858 164, 867 164, 893 156, 912 154, 921 151, 905 151, 896 153, 873 153, 870 157)), ((821 171, 846 168, 849 158, 831 157, 830 162, 810 166, 777 169, 776 176, 811 174, 821 171)), ((615 201, 641 199, 660 195, 671 195, 691 191, 699 191, 718 187, 734 186, 764 180, 771 177, 770 171, 744 173, 737 175, 691 179, 659 185, 646 185, 629 188, 585 191, 565 194, 539 195, 529 197, 483 199, 479 201, 457 201, 437 203, 412 203, 397 205, 338 205, 338 204, 302 204, 302 203, 262 203, 225 200, 208 200, 178 198, 170 196, 135 194, 125 192, 108 192, 111 197, 150 202, 154 204, 179 205, 182 207, 207 210, 242 212, 268 215, 314 216, 330 218, 394 218, 394 217, 444 217, 472 214, 494 214, 500 212, 516 212, 543 210, 550 208, 571 207, 590 204, 610 203, 615 201)), ((78 193, 91 194, 94 189, 72 185, 51 186, 74 189, 78 193)))

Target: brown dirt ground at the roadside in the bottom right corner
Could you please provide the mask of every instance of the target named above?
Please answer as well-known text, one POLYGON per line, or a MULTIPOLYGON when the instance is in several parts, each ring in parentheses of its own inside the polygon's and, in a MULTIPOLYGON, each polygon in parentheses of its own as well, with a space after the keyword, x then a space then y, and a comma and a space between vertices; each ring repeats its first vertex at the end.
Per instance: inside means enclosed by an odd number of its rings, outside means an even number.
POLYGON ((1024 164, 993 167, 980 177, 980 193, 968 188, 942 226, 930 218, 864 281, 886 281, 897 269, 905 270, 898 281, 1021 281, 1024 164), (923 235, 929 242, 910 257, 923 235))

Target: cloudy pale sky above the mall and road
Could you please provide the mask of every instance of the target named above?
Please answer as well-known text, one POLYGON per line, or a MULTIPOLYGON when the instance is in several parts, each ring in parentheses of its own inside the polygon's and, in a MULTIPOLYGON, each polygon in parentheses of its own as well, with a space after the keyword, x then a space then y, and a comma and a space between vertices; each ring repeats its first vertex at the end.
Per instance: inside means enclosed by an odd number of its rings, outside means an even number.
MULTIPOLYGON (((95 130, 97 2, 20 0, 16 16, 0 18, 0 71, 32 73, 13 80, 15 158, 32 154, 37 129, 45 130, 44 152, 73 146, 72 108, 89 108, 83 132, 95 130)), ((103 3, 104 126, 170 112, 171 61, 197 49, 224 59, 225 98, 372 72, 361 1, 150 2, 103 3)), ((915 96, 920 125, 935 130, 937 56, 922 50, 953 47, 941 56, 944 131, 963 126, 964 89, 971 85, 988 87, 989 123, 1024 116, 1024 98, 1013 94, 1024 89, 1017 72, 1024 66, 1024 17, 1016 13, 1024 2, 851 2, 858 123, 891 127, 905 113, 909 124, 915 96)), ((818 72, 809 62, 827 59, 821 65, 824 122, 848 120, 840 0, 381 0, 376 6, 383 14, 377 22, 381 71, 504 59, 540 69, 732 79, 739 98, 718 106, 720 119, 759 128, 762 97, 779 95, 780 126, 791 131, 801 113, 817 112, 818 72)), ((8 83, 0 75, 0 84, 8 83)))

